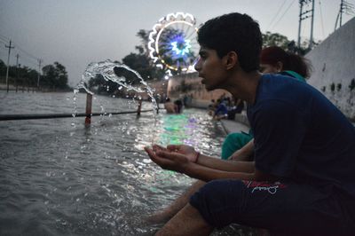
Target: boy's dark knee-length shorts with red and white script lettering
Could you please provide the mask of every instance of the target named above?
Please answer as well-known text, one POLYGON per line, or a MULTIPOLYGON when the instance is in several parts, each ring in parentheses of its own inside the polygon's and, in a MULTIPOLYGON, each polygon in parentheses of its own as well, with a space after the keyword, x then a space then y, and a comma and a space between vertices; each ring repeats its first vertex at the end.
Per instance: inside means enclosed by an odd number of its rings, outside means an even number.
POLYGON ((190 199, 209 225, 244 224, 272 235, 355 235, 346 206, 311 185, 214 180, 190 199))

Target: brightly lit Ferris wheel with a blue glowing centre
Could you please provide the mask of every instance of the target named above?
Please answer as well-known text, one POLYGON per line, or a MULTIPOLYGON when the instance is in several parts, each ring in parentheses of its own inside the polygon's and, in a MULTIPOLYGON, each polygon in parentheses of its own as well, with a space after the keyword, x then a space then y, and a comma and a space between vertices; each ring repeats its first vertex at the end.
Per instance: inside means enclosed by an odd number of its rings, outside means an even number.
POLYGON ((170 13, 158 21, 149 34, 149 55, 156 67, 168 72, 193 71, 198 55, 198 28, 192 14, 170 13))

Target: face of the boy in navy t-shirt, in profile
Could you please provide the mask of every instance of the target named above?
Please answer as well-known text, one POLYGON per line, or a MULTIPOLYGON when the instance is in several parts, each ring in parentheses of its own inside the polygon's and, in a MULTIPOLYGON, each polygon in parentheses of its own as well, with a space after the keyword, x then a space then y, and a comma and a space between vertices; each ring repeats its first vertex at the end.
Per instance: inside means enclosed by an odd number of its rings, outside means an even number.
POLYGON ((205 47, 201 47, 199 54, 200 58, 194 68, 202 78, 201 83, 205 84, 206 90, 221 88, 226 78, 224 59, 218 57, 216 50, 205 47))

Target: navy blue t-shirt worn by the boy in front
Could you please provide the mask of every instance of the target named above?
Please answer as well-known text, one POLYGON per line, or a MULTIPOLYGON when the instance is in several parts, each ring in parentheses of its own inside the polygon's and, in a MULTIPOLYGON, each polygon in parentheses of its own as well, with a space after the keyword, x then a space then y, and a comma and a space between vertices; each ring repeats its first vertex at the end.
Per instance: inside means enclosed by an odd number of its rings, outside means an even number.
POLYGON ((355 197, 355 128, 318 90, 288 76, 263 75, 248 120, 256 169, 355 197))

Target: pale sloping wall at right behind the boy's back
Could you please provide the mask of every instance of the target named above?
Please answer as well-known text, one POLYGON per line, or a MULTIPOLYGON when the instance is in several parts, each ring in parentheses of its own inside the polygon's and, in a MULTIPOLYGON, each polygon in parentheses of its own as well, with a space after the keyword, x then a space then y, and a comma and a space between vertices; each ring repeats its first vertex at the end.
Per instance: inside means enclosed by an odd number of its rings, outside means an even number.
POLYGON ((348 118, 355 120, 355 88, 349 88, 351 81, 355 83, 355 18, 305 57, 311 60, 313 67, 308 83, 322 91, 348 118), (334 90, 331 90, 332 83, 334 90))

